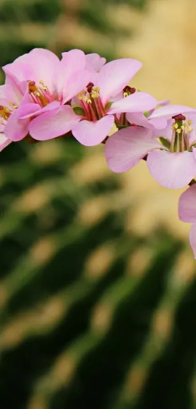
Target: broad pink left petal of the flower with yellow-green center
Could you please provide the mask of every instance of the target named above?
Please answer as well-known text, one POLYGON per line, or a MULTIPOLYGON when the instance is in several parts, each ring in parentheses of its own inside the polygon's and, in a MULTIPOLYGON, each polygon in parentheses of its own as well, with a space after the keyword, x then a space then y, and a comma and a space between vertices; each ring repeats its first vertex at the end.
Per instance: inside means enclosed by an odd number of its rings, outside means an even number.
POLYGON ((160 148, 160 143, 150 129, 137 126, 121 129, 106 141, 107 165, 113 172, 125 172, 155 148, 160 148))

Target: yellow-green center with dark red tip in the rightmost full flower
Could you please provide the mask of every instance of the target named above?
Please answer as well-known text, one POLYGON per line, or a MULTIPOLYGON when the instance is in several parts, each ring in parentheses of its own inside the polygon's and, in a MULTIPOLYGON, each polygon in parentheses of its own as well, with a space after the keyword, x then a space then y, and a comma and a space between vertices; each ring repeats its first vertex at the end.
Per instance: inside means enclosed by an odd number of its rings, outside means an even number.
POLYGON ((170 145, 170 152, 183 152, 190 150, 190 132, 193 131, 192 121, 187 120, 182 114, 172 117, 172 140, 170 145))

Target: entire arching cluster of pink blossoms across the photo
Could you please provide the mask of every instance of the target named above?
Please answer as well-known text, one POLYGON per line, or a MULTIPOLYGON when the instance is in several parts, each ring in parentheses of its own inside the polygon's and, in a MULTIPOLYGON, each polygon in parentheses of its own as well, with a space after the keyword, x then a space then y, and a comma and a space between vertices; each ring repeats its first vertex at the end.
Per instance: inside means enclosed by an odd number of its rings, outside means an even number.
POLYGON ((116 173, 145 159, 160 185, 190 185, 179 199, 179 218, 193 222, 196 258, 196 109, 157 101, 129 86, 141 67, 132 58, 106 62, 76 49, 59 59, 41 48, 5 65, 0 151, 21 139, 71 135, 85 146, 105 144, 108 167, 116 173))

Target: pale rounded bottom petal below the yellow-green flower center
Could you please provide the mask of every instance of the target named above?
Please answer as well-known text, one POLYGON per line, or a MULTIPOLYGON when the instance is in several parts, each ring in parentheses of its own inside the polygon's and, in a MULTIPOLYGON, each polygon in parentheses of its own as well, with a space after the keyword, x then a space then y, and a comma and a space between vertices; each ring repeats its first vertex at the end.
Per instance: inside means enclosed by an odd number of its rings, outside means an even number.
POLYGON ((188 151, 151 152, 147 157, 147 165, 157 182, 170 189, 183 188, 196 175, 196 159, 193 153, 188 151))

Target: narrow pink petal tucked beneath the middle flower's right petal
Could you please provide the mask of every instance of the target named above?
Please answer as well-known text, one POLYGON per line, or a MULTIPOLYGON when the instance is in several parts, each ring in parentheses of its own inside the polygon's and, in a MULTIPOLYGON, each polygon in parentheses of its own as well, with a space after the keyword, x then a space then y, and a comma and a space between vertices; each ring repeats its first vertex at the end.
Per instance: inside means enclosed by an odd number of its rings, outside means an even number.
POLYGON ((145 128, 149 129, 163 129, 167 126, 167 121, 165 118, 147 119, 142 112, 128 112, 126 114, 126 118, 130 123, 144 126, 145 128))

